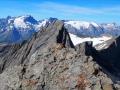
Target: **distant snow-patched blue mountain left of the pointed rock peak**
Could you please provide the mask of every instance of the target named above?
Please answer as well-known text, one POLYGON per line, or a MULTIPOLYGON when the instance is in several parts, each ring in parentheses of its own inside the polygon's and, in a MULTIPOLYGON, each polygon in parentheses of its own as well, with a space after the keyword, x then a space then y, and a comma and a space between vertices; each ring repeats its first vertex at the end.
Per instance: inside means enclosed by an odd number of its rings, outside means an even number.
POLYGON ((46 20, 37 21, 29 15, 0 19, 0 43, 28 40, 46 23, 46 20))

